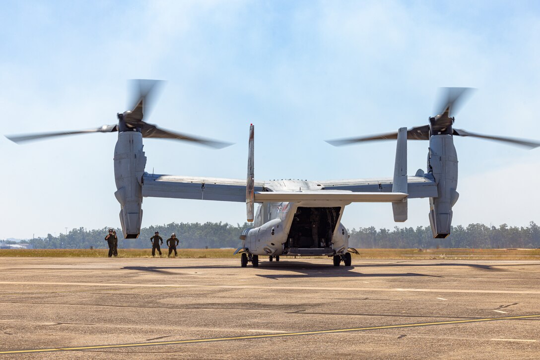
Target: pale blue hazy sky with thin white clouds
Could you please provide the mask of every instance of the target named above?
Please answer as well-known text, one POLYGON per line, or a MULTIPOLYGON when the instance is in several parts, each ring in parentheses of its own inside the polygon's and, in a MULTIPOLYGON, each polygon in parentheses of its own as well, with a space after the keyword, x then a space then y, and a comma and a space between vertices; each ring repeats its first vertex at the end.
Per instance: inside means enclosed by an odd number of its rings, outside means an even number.
MULTIPOLYGON (((145 140, 146 171, 258 180, 392 176, 395 142, 325 139, 427 124, 437 88, 477 91, 456 116, 473 132, 540 139, 537 1, 0 0, 2 133, 116 122, 127 79, 168 80, 148 120, 236 145, 145 140)), ((16 145, 0 138, 0 239, 119 226, 115 134, 16 145)), ((540 222, 540 149, 455 140, 454 225, 540 222)), ((427 141, 409 141, 409 174, 427 141)), ((143 227, 245 221, 244 203, 145 198, 143 227)), ((396 225, 389 204, 353 204, 343 223, 396 225)), ((428 226, 427 199, 405 226, 428 226)), ((403 226, 399 224, 400 226, 403 226)))

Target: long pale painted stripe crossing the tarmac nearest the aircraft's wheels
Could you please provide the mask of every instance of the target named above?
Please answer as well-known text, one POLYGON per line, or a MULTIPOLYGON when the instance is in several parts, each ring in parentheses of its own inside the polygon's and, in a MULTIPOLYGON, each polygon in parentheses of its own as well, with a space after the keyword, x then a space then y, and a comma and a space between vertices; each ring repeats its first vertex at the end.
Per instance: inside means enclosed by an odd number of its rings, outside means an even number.
MULTIPOLYGON (((205 289, 275 289, 275 290, 327 290, 327 291, 398 291, 420 293, 477 293, 477 294, 538 294, 540 290, 481 290, 481 289, 416 289, 416 288, 338 288, 309 286, 257 286, 257 285, 191 285, 191 284, 137 284, 100 282, 39 282, 0 281, 0 285, 62 285, 62 286, 112 286, 137 288, 205 288, 205 289)), ((2 295, 2 293, 0 293, 2 295)))

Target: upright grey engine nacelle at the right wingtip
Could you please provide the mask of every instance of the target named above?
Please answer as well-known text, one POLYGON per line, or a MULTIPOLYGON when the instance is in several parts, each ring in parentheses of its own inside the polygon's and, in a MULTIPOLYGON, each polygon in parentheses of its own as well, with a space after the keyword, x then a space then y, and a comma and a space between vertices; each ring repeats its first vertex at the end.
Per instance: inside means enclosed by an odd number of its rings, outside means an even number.
POLYGON ((452 207, 457 193, 457 154, 452 135, 432 135, 429 138, 428 172, 433 174, 438 197, 429 198, 429 223, 433 237, 450 235, 452 207))

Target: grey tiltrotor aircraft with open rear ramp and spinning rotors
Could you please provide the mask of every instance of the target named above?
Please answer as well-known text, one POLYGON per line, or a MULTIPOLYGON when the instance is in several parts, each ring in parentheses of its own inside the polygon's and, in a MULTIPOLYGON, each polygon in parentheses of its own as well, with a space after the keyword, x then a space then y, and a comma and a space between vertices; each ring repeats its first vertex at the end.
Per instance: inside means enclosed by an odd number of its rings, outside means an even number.
POLYGON ((540 146, 540 142, 492 137, 453 128, 453 113, 465 88, 447 88, 436 116, 429 125, 402 127, 394 133, 371 137, 328 141, 332 145, 347 145, 360 141, 397 139, 393 178, 352 180, 272 180, 254 179, 254 127, 249 128, 247 180, 194 178, 178 175, 146 173, 143 138, 168 138, 196 142, 215 148, 230 144, 160 129, 143 121, 148 114, 149 99, 159 82, 136 80, 136 101, 132 110, 118 114, 118 124, 97 129, 32 135, 14 135, 15 142, 37 140, 60 135, 87 132, 118 132, 114 148, 114 176, 120 203, 120 223, 126 239, 139 236, 144 197, 200 199, 246 202, 247 221, 253 228, 240 236, 241 266, 251 262, 259 266, 259 256, 279 261, 286 256, 329 256, 334 266, 343 261, 351 264, 348 233, 341 223, 343 210, 352 202, 391 202, 394 220, 407 220, 407 201, 429 198, 429 222, 433 236, 450 234, 452 207, 457 201, 457 155, 454 136, 471 136, 500 140, 525 147, 540 146), (421 169, 415 176, 407 175, 407 140, 429 140, 427 173, 421 169), (260 204, 257 213, 255 203, 260 204))

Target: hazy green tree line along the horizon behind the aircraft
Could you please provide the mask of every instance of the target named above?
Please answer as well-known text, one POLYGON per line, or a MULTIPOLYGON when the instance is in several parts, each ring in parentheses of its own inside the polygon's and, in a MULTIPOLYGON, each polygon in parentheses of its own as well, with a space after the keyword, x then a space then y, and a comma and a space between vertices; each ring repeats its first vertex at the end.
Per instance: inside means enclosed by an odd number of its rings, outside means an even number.
MULTIPOLYGON (((176 223, 156 225, 141 229, 138 239, 122 239, 118 233, 119 248, 150 248, 150 237, 159 231, 163 241, 172 233, 180 240, 180 248, 237 248, 241 246, 239 235, 250 227, 249 223, 231 225, 222 222, 176 223)), ((87 249, 107 248, 107 228, 86 230, 72 229, 67 234, 28 240, 35 249, 87 249)), ((430 227, 394 227, 376 229, 366 227, 349 230, 349 246, 356 248, 540 248, 540 226, 531 221, 527 227, 486 226, 470 224, 453 226, 446 239, 433 239, 430 227)))

